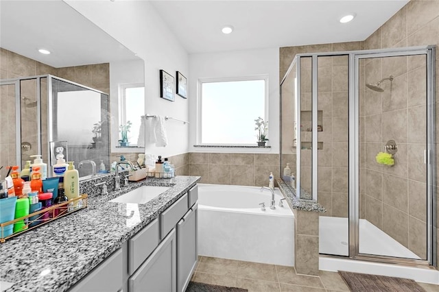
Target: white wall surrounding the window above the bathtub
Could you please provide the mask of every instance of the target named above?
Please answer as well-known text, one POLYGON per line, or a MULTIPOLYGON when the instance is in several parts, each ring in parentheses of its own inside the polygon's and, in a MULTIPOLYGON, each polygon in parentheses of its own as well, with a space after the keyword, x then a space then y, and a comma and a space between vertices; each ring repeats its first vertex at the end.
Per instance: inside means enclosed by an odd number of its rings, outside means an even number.
MULTIPOLYGON (((279 49, 255 49, 245 51, 226 51, 219 53, 195 53, 189 56, 189 150, 191 152, 243 152, 279 153, 279 49), (268 112, 268 145, 271 149, 258 148, 206 148, 193 147, 196 141, 197 101, 195 93, 200 78, 242 77, 252 75, 268 75, 269 112, 268 112)), ((245 110, 245 109, 244 109, 245 110)), ((256 117, 255 117, 256 119, 256 117)), ((256 135, 256 132, 254 132, 256 135)), ((256 144, 256 136, 254 143, 256 144)))

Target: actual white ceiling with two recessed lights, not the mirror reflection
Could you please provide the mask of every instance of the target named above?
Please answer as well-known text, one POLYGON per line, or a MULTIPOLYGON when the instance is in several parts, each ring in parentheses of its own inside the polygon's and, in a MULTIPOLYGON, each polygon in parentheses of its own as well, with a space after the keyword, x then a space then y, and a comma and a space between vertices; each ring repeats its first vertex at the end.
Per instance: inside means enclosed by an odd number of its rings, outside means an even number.
POLYGON ((151 1, 189 53, 365 40, 407 0, 151 1), (351 23, 340 18, 355 12, 351 23), (224 35, 224 25, 235 32, 224 35))

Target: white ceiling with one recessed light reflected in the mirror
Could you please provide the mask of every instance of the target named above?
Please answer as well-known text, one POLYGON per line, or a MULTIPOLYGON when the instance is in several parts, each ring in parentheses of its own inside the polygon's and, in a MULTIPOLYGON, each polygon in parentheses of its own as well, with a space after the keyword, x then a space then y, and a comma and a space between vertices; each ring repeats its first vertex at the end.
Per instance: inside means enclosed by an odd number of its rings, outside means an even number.
POLYGON ((1 0, 0 47, 56 68, 139 59, 60 0, 1 0))

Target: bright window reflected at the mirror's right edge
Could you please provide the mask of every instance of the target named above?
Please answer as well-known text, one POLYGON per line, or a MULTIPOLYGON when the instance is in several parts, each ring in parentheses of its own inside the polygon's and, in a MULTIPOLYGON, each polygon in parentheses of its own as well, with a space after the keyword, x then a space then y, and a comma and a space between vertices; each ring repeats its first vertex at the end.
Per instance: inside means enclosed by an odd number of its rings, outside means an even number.
MULTIPOLYGON (((130 146, 137 144, 141 124, 141 116, 145 114, 145 86, 143 84, 123 84, 119 100, 119 125, 132 123, 128 132, 130 146)), ((119 137, 120 139, 120 132, 119 137)))

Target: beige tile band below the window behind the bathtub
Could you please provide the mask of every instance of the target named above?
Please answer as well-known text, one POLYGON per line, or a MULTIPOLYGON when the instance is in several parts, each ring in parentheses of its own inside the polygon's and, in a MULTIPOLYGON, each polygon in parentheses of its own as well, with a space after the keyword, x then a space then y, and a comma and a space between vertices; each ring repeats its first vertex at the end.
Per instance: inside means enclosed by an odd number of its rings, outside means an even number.
POLYGON ((278 154, 189 154, 189 175, 200 175, 205 184, 268 186, 270 171, 278 177, 278 154))

